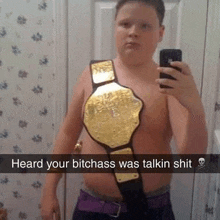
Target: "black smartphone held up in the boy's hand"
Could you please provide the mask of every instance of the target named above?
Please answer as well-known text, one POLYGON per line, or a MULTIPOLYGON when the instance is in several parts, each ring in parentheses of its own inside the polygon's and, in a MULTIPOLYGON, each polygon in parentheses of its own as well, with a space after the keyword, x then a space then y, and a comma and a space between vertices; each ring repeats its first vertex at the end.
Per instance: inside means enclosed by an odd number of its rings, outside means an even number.
MULTIPOLYGON (((164 49, 160 51, 160 66, 161 67, 172 67, 170 62, 172 61, 182 61, 182 51, 179 49, 164 49)), ((178 71, 181 71, 177 67, 172 67, 178 71)), ((174 77, 170 76, 166 73, 160 73, 161 79, 173 79, 176 80, 174 77)), ((170 86, 160 85, 160 88, 172 88, 170 86)))

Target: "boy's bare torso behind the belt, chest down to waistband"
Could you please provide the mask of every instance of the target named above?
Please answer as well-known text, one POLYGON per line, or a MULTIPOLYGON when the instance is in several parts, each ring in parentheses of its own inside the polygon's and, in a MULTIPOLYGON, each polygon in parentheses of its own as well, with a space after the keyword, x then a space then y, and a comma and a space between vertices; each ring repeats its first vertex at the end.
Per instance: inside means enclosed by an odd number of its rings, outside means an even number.
MULTIPOLYGON (((170 140, 172 137, 169 114, 167 108, 167 97, 158 92, 155 79, 158 78, 156 65, 152 68, 150 77, 140 77, 135 74, 127 74, 119 68, 114 60, 118 82, 122 86, 131 88, 134 93, 144 102, 141 112, 141 120, 138 129, 133 136, 133 148, 135 154, 170 154, 170 140)), ((91 77, 88 73, 85 82, 85 100, 92 93, 91 77)), ((147 74, 146 74, 147 75, 147 74)), ((83 108, 84 109, 84 108, 83 108)), ((106 154, 103 147, 97 144, 85 131, 83 135, 82 154, 106 154)), ((171 174, 166 173, 143 173, 144 191, 154 191, 171 181, 171 174)), ((86 187, 106 196, 122 199, 113 174, 110 173, 88 173, 84 174, 86 187)))

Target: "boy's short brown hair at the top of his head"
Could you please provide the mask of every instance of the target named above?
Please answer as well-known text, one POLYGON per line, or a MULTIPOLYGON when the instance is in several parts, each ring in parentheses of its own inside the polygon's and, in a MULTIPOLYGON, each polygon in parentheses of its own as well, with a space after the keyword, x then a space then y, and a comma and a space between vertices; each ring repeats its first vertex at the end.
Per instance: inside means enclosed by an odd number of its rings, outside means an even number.
POLYGON ((146 5, 150 5, 154 7, 156 10, 160 25, 163 24, 163 19, 165 15, 165 7, 164 7, 163 0, 119 0, 116 5, 115 19, 117 18, 118 12, 121 9, 121 7, 128 2, 144 3, 146 5))

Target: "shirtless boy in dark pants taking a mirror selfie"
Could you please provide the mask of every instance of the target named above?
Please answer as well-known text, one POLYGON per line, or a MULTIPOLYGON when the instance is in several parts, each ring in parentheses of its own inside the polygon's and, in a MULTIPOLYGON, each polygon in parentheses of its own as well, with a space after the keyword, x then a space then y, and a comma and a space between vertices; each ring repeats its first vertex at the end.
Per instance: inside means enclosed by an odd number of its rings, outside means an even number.
MULTIPOLYGON (((174 136, 177 153, 205 153, 205 115, 190 68, 184 62, 171 63, 173 67, 180 68, 181 72, 174 68, 161 68, 152 59, 164 35, 164 11, 162 0, 119 0, 116 7, 117 56, 113 60, 116 83, 131 89, 136 96, 135 100, 142 103, 139 126, 129 142, 132 143, 131 152, 171 154, 170 140, 174 136), (176 80, 159 79, 160 72, 176 80), (172 88, 160 88, 160 84, 172 88)), ((87 67, 80 78, 57 136, 54 154, 73 152, 73 146, 83 129, 83 120, 87 129, 81 153, 107 154, 100 141, 96 140, 98 136, 91 134, 89 124, 86 103, 95 86, 92 71, 92 68, 90 70, 87 67)), ((100 85, 96 86, 100 88, 100 85)), ((117 113, 118 109, 112 109, 113 116, 116 114, 114 111, 117 113)), ((127 185, 124 187, 122 184, 121 187, 112 173, 83 174, 84 189, 81 190, 73 219, 172 220, 174 215, 169 194, 171 176, 167 173, 142 173, 138 180, 142 184, 140 190, 136 190, 140 185, 135 183, 137 187, 132 188, 131 185, 129 191, 127 185)), ((56 197, 60 178, 61 174, 52 173, 46 177, 42 194, 42 217, 45 220, 52 220, 53 214, 56 219, 60 219, 56 197)))

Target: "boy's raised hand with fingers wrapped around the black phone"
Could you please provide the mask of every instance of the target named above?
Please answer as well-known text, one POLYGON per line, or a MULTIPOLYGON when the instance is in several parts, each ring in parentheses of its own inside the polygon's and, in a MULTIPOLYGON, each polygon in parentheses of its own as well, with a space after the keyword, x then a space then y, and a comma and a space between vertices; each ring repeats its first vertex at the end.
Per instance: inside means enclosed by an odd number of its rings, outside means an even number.
POLYGON ((173 76, 172 79, 156 79, 156 83, 170 86, 172 88, 160 88, 161 93, 174 96, 185 108, 192 110, 195 103, 200 102, 199 92, 196 88, 189 66, 184 62, 171 62, 171 66, 178 67, 178 71, 170 67, 158 67, 159 72, 173 76))

